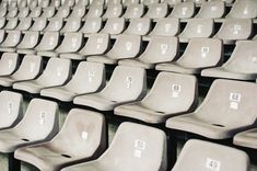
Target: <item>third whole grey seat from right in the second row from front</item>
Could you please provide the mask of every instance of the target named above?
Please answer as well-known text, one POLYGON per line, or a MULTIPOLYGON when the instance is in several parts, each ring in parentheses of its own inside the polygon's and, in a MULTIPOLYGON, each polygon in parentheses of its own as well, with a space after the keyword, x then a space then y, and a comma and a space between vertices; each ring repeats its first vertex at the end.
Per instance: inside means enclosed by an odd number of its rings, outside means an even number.
POLYGON ((73 103, 100 111, 113 111, 117 105, 141 100, 145 93, 145 70, 118 66, 102 91, 77 96, 73 103))

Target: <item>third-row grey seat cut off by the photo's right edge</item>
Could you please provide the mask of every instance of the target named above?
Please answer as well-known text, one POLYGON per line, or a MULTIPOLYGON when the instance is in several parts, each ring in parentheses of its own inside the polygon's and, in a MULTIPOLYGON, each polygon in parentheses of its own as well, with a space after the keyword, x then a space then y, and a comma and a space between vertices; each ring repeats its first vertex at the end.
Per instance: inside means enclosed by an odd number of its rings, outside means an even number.
POLYGON ((237 80, 255 80, 257 78, 257 42, 240 41, 230 59, 221 67, 205 69, 201 76, 229 78, 237 80))

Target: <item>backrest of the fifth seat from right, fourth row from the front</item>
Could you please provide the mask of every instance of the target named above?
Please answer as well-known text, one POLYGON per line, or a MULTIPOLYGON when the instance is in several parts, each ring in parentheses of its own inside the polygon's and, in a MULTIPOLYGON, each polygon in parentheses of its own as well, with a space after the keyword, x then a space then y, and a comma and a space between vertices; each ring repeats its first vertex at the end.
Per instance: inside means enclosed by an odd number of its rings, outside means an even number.
POLYGON ((124 31, 124 29, 125 29, 124 18, 110 18, 107 20, 101 33, 117 35, 120 34, 124 31))

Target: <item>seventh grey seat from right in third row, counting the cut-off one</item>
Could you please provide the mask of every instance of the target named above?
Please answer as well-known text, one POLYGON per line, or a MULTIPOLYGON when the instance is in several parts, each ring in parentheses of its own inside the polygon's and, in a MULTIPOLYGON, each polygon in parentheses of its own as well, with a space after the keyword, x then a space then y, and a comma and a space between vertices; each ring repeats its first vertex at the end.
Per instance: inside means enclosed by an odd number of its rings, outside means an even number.
POLYGON ((59 32, 46 32, 40 43, 35 47, 37 55, 48 56, 51 55, 59 43, 59 32))

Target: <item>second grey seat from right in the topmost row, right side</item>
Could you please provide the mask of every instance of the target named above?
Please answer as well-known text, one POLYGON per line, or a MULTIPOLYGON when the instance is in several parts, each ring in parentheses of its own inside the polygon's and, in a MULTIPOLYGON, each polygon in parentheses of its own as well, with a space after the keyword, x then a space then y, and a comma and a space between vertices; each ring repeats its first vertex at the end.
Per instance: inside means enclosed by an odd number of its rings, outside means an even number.
POLYGON ((225 13, 224 1, 208 1, 201 4, 201 9, 195 18, 221 19, 225 13))

